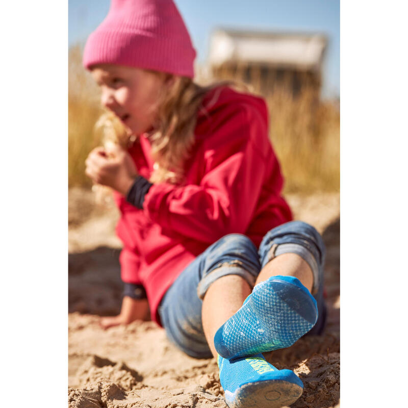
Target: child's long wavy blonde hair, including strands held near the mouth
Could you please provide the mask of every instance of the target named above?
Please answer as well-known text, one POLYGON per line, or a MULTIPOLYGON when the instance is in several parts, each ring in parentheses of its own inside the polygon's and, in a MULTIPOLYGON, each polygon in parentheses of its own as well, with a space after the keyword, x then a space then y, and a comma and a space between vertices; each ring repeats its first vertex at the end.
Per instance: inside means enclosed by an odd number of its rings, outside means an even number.
MULTIPOLYGON (((202 106, 203 97, 212 89, 229 86, 237 90, 249 92, 249 87, 237 81, 219 81, 202 86, 187 77, 180 77, 163 72, 155 72, 164 80, 169 81, 168 91, 164 92, 156 105, 157 121, 154 130, 149 134, 152 158, 155 160, 154 170, 150 176, 151 183, 167 182, 183 184, 184 164, 190 156, 194 144, 194 129, 197 114, 206 114, 202 106)), ((219 92, 208 104, 215 104, 219 92)), ((99 118, 96 127, 103 129, 104 144, 117 143, 129 148, 136 139, 126 130, 121 121, 111 112, 99 118)))

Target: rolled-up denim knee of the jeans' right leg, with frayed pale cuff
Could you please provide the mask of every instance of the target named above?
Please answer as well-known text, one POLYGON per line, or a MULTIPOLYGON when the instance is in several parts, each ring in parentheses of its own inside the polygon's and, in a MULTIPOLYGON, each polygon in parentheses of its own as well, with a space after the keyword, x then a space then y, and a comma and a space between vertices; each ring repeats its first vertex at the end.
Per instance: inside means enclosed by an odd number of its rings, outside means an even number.
POLYGON ((317 293, 323 285, 325 246, 316 228, 303 221, 290 221, 270 230, 259 247, 262 267, 287 252, 297 253, 309 264, 314 276, 312 293, 317 293))

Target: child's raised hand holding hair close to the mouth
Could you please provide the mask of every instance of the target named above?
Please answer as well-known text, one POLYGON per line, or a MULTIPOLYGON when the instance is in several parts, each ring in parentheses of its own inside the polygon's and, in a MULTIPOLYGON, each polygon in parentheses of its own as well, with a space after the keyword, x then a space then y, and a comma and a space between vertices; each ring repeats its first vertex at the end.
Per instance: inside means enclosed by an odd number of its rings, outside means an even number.
POLYGON ((126 195, 137 176, 136 166, 130 154, 118 145, 109 151, 103 147, 93 149, 85 161, 85 174, 94 183, 108 186, 126 195))

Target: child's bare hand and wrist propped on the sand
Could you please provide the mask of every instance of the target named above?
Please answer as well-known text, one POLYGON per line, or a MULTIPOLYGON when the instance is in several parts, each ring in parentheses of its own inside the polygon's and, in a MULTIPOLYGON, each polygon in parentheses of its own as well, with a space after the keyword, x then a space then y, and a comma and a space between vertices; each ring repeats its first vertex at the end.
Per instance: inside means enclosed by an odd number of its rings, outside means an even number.
POLYGON ((135 320, 148 320, 148 316, 147 299, 133 299, 130 296, 123 296, 120 313, 117 316, 102 317, 99 324, 103 328, 108 328, 119 324, 129 324, 135 320))

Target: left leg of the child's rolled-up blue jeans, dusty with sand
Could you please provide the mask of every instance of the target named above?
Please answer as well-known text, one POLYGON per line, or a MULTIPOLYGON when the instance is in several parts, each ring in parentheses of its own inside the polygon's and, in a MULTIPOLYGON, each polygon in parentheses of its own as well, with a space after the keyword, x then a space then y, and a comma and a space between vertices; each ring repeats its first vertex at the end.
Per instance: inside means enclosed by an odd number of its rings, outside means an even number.
POLYGON ((210 245, 177 277, 161 301, 159 315, 170 341, 194 358, 209 358, 212 354, 201 321, 208 288, 231 274, 242 276, 253 287, 260 270, 258 250, 248 237, 230 234, 210 245))

